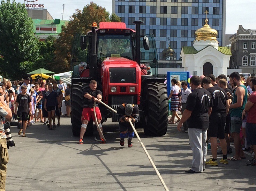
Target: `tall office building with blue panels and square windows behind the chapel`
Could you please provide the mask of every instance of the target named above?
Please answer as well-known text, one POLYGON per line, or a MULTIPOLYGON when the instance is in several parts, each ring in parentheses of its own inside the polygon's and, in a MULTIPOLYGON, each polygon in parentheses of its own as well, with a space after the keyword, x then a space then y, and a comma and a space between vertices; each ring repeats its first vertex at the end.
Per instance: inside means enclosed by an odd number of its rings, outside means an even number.
POLYGON ((112 10, 128 28, 135 29, 134 20, 144 21, 141 34, 154 34, 159 60, 168 60, 163 51, 169 43, 174 60, 180 59, 182 46, 193 46, 206 10, 209 25, 218 31, 219 46, 225 42, 226 0, 113 0, 112 10))

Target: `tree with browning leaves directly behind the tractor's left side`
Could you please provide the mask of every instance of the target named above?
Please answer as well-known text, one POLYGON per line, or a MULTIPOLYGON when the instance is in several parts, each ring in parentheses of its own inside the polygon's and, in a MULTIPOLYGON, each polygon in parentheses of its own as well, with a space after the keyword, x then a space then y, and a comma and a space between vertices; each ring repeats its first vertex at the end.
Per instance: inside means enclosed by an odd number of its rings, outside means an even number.
POLYGON ((52 70, 66 72, 70 70, 71 48, 74 36, 86 34, 91 30, 93 22, 98 25, 100 22, 120 22, 120 18, 115 14, 110 14, 105 8, 91 2, 83 10, 76 9, 76 13, 71 16, 71 21, 67 26, 62 26, 60 38, 55 43, 55 64, 52 70))

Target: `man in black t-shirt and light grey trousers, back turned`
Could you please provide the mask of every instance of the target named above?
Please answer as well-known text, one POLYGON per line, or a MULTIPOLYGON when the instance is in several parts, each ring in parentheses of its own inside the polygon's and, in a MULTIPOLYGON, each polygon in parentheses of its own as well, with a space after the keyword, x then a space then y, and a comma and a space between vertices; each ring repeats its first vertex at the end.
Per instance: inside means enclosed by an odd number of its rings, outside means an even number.
POLYGON ((194 90, 188 95, 187 106, 177 127, 181 131, 182 123, 188 122, 189 144, 193 151, 192 168, 186 173, 202 173, 205 169, 207 154, 207 129, 213 102, 211 94, 201 88, 199 76, 190 78, 190 87, 194 90))

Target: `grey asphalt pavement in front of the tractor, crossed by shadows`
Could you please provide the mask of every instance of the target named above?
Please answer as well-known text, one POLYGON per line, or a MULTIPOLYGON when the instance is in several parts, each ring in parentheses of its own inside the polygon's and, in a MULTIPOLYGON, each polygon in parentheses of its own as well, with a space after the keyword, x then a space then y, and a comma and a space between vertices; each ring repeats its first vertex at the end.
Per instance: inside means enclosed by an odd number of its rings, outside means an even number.
MULTIPOLYGON (((55 130, 33 124, 25 138, 11 127, 16 147, 8 149, 6 190, 164 191, 136 137, 132 148, 127 140, 121 147, 118 123, 106 122, 103 128, 106 144, 91 136, 80 145, 71 132, 70 118, 61 118, 55 130)), ((169 124, 161 137, 147 137, 142 129, 137 132, 169 190, 256 190, 256 167, 246 166, 250 153, 241 161, 187 174, 184 171, 192 161, 188 133, 178 132, 175 124, 169 124)), ((94 135, 98 136, 96 131, 94 135)))

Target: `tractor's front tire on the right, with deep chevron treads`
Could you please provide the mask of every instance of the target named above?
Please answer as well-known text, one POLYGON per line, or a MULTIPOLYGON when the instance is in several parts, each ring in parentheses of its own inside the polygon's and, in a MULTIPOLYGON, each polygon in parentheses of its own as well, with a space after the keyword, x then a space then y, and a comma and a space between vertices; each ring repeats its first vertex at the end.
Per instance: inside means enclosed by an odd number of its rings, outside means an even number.
POLYGON ((162 83, 149 83, 145 87, 144 117, 141 124, 145 135, 162 136, 166 134, 168 122, 168 96, 162 83))

